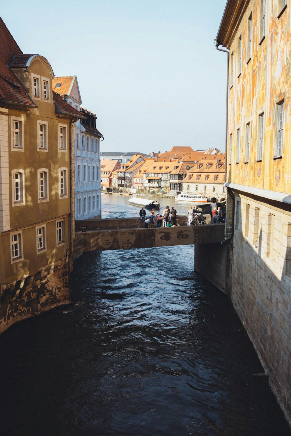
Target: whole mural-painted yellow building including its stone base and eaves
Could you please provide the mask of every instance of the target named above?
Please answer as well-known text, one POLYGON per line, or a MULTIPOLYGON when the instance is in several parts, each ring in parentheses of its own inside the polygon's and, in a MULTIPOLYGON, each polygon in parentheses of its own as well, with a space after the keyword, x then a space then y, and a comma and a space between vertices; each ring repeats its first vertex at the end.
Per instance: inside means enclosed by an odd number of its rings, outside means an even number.
POLYGON ((290 1, 227 1, 219 45, 229 50, 227 290, 291 423, 290 1))

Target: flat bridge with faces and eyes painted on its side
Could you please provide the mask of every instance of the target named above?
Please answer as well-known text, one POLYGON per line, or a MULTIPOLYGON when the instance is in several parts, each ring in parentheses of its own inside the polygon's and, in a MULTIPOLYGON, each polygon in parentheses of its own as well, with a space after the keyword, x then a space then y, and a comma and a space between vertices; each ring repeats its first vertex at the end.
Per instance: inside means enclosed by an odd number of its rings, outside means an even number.
POLYGON ((74 252, 106 251, 223 241, 225 224, 144 228, 137 218, 76 221, 74 252))

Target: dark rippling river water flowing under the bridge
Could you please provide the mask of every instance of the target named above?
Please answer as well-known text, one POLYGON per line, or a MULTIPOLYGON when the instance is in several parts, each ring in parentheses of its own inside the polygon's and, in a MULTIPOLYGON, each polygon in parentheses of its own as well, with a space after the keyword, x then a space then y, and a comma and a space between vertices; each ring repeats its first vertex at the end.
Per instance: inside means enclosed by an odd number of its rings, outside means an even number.
MULTIPOLYGON (((133 208, 104 197, 105 216, 133 208)), ((290 436, 230 300, 193 259, 192 246, 82 255, 74 304, 0 336, 0 435, 290 436)))

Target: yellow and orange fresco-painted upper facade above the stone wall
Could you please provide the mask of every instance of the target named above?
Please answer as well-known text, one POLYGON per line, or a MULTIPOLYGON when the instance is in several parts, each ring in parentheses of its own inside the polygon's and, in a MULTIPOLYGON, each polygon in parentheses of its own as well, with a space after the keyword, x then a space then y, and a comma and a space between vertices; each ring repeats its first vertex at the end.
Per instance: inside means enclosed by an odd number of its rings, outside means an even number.
MULTIPOLYGON (((251 0, 230 47, 234 54, 233 87, 229 90, 228 142, 232 134, 232 165, 228 180, 237 184, 271 189, 291 194, 287 174, 289 117, 291 115, 291 34, 290 7, 279 18, 277 1, 270 0, 266 10, 265 38, 261 34, 261 2, 251 0), (252 20, 252 54, 247 57, 248 21, 252 20), (238 42, 241 37, 241 74, 238 65, 238 42), (282 158, 274 159, 277 144, 278 102, 284 100, 284 146, 282 158), (264 114, 264 147, 260 159, 259 116, 264 114), (246 124, 250 123, 249 159, 246 153, 246 124), (236 163, 237 132, 240 130, 240 159, 236 163)), ((230 75, 229 71, 229 75, 230 75)), ((229 79, 230 80, 230 79, 229 79)), ((228 143, 229 153, 230 143, 228 143)))

